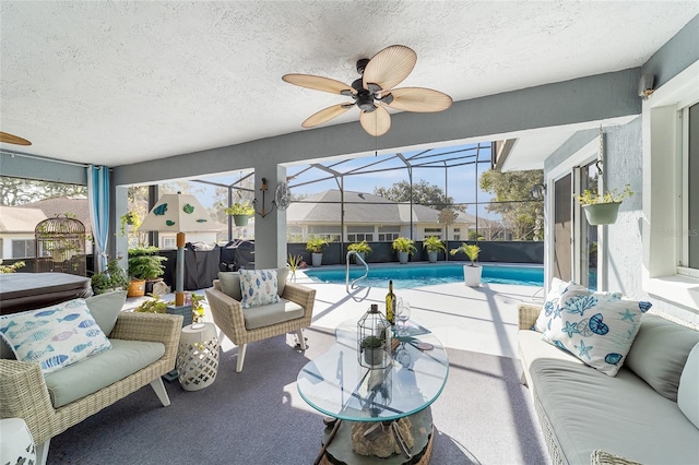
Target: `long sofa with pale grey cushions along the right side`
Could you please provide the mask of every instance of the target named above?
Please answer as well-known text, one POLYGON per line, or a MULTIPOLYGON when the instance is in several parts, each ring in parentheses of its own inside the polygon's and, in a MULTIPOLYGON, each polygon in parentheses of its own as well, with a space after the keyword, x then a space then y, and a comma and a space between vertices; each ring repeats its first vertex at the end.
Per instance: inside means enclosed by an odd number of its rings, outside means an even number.
POLYGON ((679 373, 699 346, 696 329, 649 311, 626 363, 609 377, 545 342, 533 327, 541 310, 520 305, 518 343, 552 463, 699 463, 699 428, 677 401, 679 373))

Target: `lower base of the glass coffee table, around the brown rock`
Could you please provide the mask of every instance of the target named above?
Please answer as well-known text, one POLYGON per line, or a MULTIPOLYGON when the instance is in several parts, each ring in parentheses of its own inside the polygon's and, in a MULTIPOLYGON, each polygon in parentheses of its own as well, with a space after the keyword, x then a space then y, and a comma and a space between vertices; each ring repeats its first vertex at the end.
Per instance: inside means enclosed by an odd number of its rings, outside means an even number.
MULTIPOLYGON (((414 445, 411 449, 412 458, 393 454, 381 458, 377 456, 366 456, 354 452, 352 446, 353 421, 342 421, 334 439, 325 450, 325 454, 320 461, 320 465, 426 465, 433 452, 433 415, 429 407, 410 417, 411 432, 414 438, 414 445)), ((328 441, 332 428, 327 428, 323 433, 323 444, 328 441)))

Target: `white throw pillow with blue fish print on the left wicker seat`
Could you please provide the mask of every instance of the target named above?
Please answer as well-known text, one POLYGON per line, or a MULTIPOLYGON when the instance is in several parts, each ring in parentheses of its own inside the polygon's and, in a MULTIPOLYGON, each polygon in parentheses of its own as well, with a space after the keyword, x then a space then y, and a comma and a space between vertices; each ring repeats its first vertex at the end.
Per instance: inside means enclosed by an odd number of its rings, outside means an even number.
POLYGON ((0 336, 17 360, 50 373, 111 348, 84 299, 0 317, 0 336))

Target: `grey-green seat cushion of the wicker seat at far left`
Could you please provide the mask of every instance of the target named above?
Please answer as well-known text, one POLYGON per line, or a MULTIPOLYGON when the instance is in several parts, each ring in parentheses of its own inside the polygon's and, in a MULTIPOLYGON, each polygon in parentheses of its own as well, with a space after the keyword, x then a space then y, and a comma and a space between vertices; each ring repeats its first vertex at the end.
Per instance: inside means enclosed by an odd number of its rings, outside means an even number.
POLYGON ((165 354, 162 343, 111 339, 111 350, 44 377, 55 408, 122 380, 165 354))

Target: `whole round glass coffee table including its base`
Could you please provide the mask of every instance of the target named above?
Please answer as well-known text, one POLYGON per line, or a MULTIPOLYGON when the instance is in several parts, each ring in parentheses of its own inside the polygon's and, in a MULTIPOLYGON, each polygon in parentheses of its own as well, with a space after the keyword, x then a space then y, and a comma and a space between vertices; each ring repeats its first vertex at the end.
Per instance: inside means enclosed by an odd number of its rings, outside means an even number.
POLYGON ((449 374, 449 359, 429 330, 408 322, 393 332, 392 362, 363 367, 357 322, 335 330, 335 344, 298 373, 301 397, 323 413, 323 448, 316 463, 422 464, 431 453, 429 405, 449 374))

